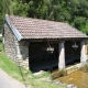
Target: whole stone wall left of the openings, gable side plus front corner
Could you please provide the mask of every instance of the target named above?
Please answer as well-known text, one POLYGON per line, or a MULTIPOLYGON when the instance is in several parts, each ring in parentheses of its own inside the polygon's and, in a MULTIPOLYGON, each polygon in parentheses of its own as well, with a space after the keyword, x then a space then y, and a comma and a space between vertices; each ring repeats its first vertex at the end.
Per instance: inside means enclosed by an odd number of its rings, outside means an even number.
POLYGON ((26 41, 18 41, 8 24, 4 24, 4 51, 9 58, 29 69, 29 47, 26 41))

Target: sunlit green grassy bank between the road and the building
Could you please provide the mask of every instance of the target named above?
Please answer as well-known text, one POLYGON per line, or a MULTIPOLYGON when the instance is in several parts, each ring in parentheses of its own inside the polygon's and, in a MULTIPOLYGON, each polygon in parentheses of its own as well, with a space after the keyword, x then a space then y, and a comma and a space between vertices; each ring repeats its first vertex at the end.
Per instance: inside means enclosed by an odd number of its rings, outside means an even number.
POLYGON ((14 62, 12 62, 6 56, 1 41, 0 41, 0 68, 8 73, 13 78, 22 81, 26 86, 31 86, 32 88, 63 88, 65 86, 65 85, 58 86, 55 84, 47 82, 46 80, 42 80, 43 78, 50 77, 48 73, 35 76, 30 70, 16 66, 14 62))

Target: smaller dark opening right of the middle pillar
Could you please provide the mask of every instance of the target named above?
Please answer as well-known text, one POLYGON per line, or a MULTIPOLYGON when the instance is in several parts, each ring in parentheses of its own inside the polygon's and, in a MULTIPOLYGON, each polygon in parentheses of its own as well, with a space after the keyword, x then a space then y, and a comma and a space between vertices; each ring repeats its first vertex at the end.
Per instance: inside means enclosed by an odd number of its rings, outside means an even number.
POLYGON ((65 62, 66 66, 80 63, 80 42, 78 41, 65 42, 65 62))

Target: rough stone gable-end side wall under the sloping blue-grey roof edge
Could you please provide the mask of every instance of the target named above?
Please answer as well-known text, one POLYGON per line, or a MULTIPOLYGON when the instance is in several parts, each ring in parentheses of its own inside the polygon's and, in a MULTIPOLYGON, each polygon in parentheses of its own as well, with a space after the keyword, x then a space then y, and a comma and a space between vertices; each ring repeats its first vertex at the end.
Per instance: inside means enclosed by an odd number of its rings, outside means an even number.
POLYGON ((16 50, 14 42, 18 42, 8 24, 4 24, 4 51, 9 58, 16 59, 16 50))

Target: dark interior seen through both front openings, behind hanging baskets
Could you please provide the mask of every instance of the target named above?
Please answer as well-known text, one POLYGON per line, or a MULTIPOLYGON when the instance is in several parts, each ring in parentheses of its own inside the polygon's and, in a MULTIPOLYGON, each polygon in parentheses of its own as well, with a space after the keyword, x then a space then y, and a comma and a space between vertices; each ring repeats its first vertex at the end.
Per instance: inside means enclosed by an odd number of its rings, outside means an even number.
MULTIPOLYGON (((29 46, 30 69, 32 72, 52 70, 58 68, 58 42, 32 42, 29 46), (47 47, 54 51, 46 51, 47 47)), ((80 62, 80 42, 65 42, 65 62, 66 66, 80 62), (73 47, 73 45, 78 47, 73 47)))

